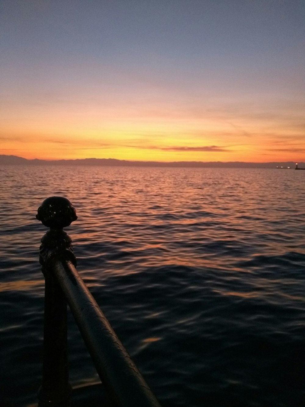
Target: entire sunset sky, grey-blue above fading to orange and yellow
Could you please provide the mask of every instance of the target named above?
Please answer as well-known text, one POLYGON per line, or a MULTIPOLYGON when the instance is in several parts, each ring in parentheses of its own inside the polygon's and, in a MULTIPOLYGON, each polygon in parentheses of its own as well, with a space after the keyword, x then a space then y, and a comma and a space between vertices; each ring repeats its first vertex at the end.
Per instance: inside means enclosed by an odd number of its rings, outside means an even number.
POLYGON ((305 161, 303 0, 0 0, 0 154, 305 161))

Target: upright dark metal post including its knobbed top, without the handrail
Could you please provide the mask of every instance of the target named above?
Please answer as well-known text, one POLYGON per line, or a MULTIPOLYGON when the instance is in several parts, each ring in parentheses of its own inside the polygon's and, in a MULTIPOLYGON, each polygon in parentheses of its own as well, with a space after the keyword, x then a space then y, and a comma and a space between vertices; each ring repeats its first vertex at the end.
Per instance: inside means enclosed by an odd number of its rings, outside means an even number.
POLYGON ((68 372, 67 300, 50 267, 58 254, 74 265, 71 239, 63 228, 77 219, 71 202, 63 197, 47 198, 38 208, 36 218, 50 228, 41 239, 39 262, 45 277, 44 350, 42 384, 38 391, 39 407, 68 406, 71 394, 68 372))

